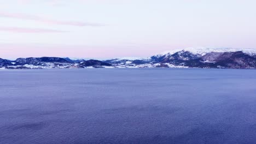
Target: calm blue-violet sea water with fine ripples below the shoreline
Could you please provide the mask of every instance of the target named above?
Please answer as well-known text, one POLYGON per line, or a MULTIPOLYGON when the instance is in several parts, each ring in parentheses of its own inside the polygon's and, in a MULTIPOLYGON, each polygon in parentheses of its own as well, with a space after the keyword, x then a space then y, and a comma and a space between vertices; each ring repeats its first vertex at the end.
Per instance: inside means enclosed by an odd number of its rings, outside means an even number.
POLYGON ((256 70, 1 70, 0 143, 256 143, 256 70))

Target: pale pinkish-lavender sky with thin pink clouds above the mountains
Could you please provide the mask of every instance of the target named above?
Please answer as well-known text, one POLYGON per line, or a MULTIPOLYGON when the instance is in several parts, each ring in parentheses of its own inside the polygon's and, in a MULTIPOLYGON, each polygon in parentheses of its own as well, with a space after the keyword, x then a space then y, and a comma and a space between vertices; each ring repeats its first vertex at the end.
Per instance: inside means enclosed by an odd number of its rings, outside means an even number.
POLYGON ((0 58, 256 49, 253 0, 0 0, 0 58))

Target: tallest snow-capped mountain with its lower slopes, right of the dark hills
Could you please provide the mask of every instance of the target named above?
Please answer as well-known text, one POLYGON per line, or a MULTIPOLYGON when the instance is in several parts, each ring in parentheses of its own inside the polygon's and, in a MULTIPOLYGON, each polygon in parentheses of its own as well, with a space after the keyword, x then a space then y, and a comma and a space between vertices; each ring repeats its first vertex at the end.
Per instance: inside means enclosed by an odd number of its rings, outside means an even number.
POLYGON ((189 47, 136 60, 110 59, 119 67, 256 68, 256 49, 189 47))

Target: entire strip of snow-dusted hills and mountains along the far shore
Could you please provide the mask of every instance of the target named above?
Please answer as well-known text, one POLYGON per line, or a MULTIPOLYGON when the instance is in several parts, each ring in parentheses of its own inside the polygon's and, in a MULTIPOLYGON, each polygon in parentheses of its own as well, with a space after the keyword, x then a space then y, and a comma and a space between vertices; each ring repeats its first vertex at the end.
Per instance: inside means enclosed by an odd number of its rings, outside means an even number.
POLYGON ((71 59, 61 57, 0 58, 0 69, 51 68, 232 68, 255 69, 256 49, 188 48, 147 58, 71 59))

